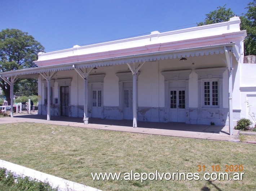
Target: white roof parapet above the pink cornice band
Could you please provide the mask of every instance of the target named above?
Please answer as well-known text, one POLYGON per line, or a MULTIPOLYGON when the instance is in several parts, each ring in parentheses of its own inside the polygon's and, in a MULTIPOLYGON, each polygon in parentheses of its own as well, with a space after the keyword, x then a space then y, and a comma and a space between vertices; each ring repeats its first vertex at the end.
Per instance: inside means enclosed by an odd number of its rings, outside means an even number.
MULTIPOLYGON (((129 48, 145 47, 154 44, 163 43, 186 43, 191 40, 202 38, 213 38, 220 35, 229 35, 234 32, 240 32, 239 17, 232 17, 227 22, 203 25, 199 27, 191 27, 160 33, 153 31, 150 34, 132 38, 119 39, 115 41, 95 43, 92 45, 79 46, 74 45, 72 48, 65 50, 38 53, 37 61, 47 61, 52 59, 62 59, 71 56, 81 56, 89 54, 97 54, 109 51, 120 51, 129 48)), ((218 43, 218 42, 216 42, 218 43)), ((223 43, 223 42, 220 42, 223 43)), ((212 45, 212 44, 209 44, 212 45)), ((191 45, 190 45, 191 47, 191 45)))

